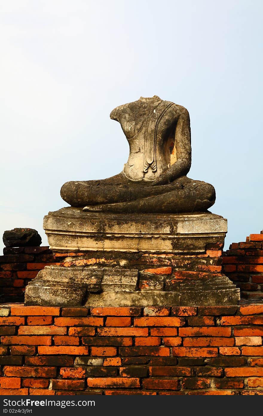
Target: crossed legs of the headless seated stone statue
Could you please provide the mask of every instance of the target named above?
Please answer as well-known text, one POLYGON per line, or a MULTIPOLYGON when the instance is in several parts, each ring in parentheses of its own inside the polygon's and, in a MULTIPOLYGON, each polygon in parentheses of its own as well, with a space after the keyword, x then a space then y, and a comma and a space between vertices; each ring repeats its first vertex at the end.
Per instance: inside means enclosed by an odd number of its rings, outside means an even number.
POLYGON ((71 181, 61 188, 71 206, 113 213, 177 213, 205 211, 216 195, 210 183, 182 176, 172 183, 153 186, 130 182, 123 173, 101 181, 71 181))

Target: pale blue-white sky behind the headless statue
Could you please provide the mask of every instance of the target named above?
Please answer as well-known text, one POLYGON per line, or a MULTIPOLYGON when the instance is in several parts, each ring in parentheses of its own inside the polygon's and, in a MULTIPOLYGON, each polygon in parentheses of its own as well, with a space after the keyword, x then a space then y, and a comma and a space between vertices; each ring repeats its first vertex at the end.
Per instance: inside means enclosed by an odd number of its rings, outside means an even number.
POLYGON ((61 185, 127 161, 111 110, 154 94, 189 110, 188 176, 216 188, 225 248, 259 233, 262 15, 261 0, 0 0, 0 233, 47 244, 61 185))

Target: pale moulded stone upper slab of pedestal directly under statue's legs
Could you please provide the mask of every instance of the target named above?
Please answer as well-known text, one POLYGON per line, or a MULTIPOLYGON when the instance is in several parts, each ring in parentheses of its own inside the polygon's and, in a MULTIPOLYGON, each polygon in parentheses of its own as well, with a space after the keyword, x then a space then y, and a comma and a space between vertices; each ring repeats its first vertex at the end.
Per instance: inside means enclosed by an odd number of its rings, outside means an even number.
POLYGON ((224 244, 227 220, 212 213, 88 213, 66 207, 44 217, 50 248, 61 251, 204 253, 224 244))

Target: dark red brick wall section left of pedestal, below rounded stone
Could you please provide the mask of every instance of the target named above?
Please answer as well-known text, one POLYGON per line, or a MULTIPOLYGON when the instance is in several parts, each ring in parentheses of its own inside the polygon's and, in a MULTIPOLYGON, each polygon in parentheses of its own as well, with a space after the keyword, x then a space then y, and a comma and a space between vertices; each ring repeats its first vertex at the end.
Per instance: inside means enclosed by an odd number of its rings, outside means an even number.
POLYGON ((24 302, 27 283, 56 262, 49 247, 4 248, 0 256, 0 302, 24 302))

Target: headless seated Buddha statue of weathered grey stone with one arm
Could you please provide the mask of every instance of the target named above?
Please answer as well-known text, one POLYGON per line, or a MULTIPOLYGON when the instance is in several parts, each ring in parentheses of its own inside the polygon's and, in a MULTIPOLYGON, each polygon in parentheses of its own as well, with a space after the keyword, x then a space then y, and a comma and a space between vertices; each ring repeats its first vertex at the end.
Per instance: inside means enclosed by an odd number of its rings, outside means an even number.
POLYGON ((186 175, 191 167, 187 109, 156 95, 116 107, 130 154, 123 171, 99 181, 71 181, 61 197, 86 211, 179 213, 205 211, 216 199, 210 183, 186 175))

